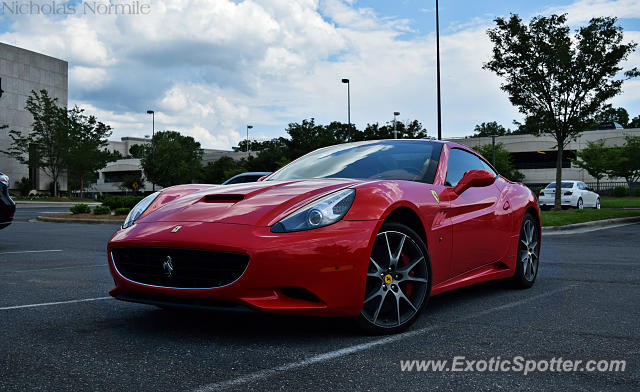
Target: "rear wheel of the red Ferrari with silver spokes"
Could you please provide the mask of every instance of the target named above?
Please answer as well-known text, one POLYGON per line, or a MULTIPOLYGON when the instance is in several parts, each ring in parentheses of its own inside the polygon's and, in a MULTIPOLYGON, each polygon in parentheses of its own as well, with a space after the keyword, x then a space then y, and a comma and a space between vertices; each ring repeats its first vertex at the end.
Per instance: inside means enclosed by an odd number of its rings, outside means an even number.
POLYGON ((540 265, 540 229, 530 213, 526 213, 520 226, 518 251, 516 253, 516 271, 511 282, 516 288, 528 289, 538 277, 540 265), (531 230, 533 233, 531 234, 531 230), (531 238, 530 238, 531 237, 531 238), (525 246, 525 243, 529 245, 525 246), (525 262, 525 259, 527 260, 525 262), (529 264, 528 260, 531 260, 529 264))

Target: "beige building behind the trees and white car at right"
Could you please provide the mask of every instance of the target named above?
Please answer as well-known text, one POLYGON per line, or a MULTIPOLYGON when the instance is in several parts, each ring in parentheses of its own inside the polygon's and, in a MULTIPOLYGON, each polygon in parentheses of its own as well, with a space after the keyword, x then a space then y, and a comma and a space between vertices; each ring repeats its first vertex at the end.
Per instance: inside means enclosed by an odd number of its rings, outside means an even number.
MULTIPOLYGON (((567 180, 579 180, 595 182, 586 170, 577 167, 571 162, 576 158, 576 151, 587 146, 587 142, 604 140, 606 146, 623 145, 625 136, 640 136, 640 128, 633 129, 608 129, 587 131, 569 143, 565 148, 562 159, 562 178, 567 180)), ((476 148, 485 144, 491 144, 491 137, 466 137, 448 139, 465 146, 476 148)), ((556 178, 556 142, 549 135, 509 135, 496 137, 496 144, 502 143, 504 148, 511 153, 513 164, 521 171, 527 184, 548 184, 556 178)), ((638 157, 640 159, 640 157, 638 157)), ((605 178, 604 181, 624 181, 620 178, 605 178)))

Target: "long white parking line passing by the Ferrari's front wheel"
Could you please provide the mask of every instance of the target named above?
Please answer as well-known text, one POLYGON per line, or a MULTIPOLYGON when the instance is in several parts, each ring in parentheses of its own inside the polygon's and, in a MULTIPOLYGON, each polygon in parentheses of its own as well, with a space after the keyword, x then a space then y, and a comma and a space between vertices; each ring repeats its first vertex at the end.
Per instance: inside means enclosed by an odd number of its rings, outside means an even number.
MULTIPOLYGON (((464 316, 464 317, 459 317, 456 319, 453 319, 452 322, 461 322, 461 321, 466 321, 472 318, 476 318, 479 316, 484 316, 486 314, 489 313, 493 313, 493 312, 497 312, 499 310, 504 310, 504 309, 510 309, 513 307, 516 307, 518 305, 521 305, 523 303, 527 303, 527 302, 531 302, 531 301, 535 301, 537 299, 540 298, 544 298, 544 297, 549 297, 552 295, 556 295, 560 292, 563 291, 567 291, 570 289, 573 289, 574 287, 576 287, 576 285, 571 285, 571 286, 567 286, 567 287, 563 287, 557 290, 552 290, 549 292, 546 292, 544 294, 539 294, 539 295, 535 295, 533 297, 528 297, 525 299, 521 299, 519 301, 514 301, 514 302, 510 302, 507 303, 505 305, 501 305, 501 306, 496 306, 494 308, 490 308, 487 310, 483 310, 480 312, 476 312, 473 313, 471 315, 468 316, 464 316)), ((385 345, 385 344, 389 344, 389 343, 393 343, 393 342, 397 342, 399 340, 404 340, 407 338, 411 338, 414 337, 416 335, 421 335, 425 332, 431 332, 435 329, 438 329, 439 327, 442 327, 441 325, 431 325, 425 328, 421 328, 421 329, 417 329, 414 331, 409 331, 409 332, 404 332, 398 335, 393 335, 393 336, 388 336, 385 338, 381 338, 381 339, 377 339, 377 340, 373 340, 371 342, 368 343, 362 343, 362 344, 357 344, 355 346, 350 346, 350 347, 345 347, 336 351, 330 351, 328 353, 324 353, 324 354, 319 354, 319 355, 314 355, 313 357, 309 357, 307 359, 304 359, 302 361, 299 362, 290 362, 275 368, 271 368, 271 369, 265 369, 265 370, 261 370, 258 372, 254 372, 254 373, 249 373, 245 376, 241 376, 238 378, 233 378, 230 380, 225 380, 225 381, 220 381, 220 382, 216 382, 213 384, 208 384, 208 385, 204 385, 199 387, 198 389, 196 389, 194 392, 208 392, 208 391, 220 391, 220 390, 225 390, 231 387, 237 387, 240 385, 244 385, 253 381, 257 381, 257 380, 262 380, 265 378, 268 378, 270 376, 273 376, 275 374, 280 374, 282 372, 286 372, 289 370, 295 370, 295 369, 300 369, 309 365, 313 365, 319 362, 325 362, 325 361, 330 361, 332 359, 336 359, 336 358, 340 358, 340 357, 344 357, 346 355, 349 354, 353 354, 353 353, 357 353, 360 351, 364 351, 364 350, 368 350, 370 348, 373 347, 377 347, 377 346, 381 346, 381 345, 385 345)))

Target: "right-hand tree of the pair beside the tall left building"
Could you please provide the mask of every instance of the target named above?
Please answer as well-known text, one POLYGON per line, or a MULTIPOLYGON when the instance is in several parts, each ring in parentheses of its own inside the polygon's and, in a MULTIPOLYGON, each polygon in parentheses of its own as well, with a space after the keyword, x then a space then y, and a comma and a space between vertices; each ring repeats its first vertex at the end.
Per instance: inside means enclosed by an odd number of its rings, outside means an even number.
POLYGON ((116 160, 113 153, 107 151, 107 138, 111 136, 111 127, 87 116, 84 109, 77 106, 69 110, 68 130, 69 146, 65 154, 68 177, 71 183, 78 183, 80 197, 83 197, 88 178, 96 178, 96 171, 116 160), (77 179, 77 181, 74 181, 77 179))

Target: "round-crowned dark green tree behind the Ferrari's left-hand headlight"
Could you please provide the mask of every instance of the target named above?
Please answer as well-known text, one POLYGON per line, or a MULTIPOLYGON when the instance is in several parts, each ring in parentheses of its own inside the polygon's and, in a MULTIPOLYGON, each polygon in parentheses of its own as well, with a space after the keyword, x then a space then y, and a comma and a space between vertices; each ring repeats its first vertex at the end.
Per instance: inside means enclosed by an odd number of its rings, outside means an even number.
POLYGON ((200 176, 202 149, 191 136, 176 131, 156 132, 141 160, 148 181, 162 187, 191 183, 200 176))

